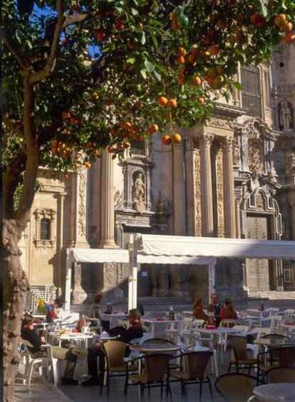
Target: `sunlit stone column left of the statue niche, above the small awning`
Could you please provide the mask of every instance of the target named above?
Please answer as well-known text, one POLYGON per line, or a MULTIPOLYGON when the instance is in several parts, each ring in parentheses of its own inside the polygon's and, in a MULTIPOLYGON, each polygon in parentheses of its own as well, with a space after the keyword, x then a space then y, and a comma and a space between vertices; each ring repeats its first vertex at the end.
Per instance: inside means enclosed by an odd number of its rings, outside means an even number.
POLYGON ((100 248, 116 248, 113 158, 105 149, 101 158, 100 176, 100 248))

